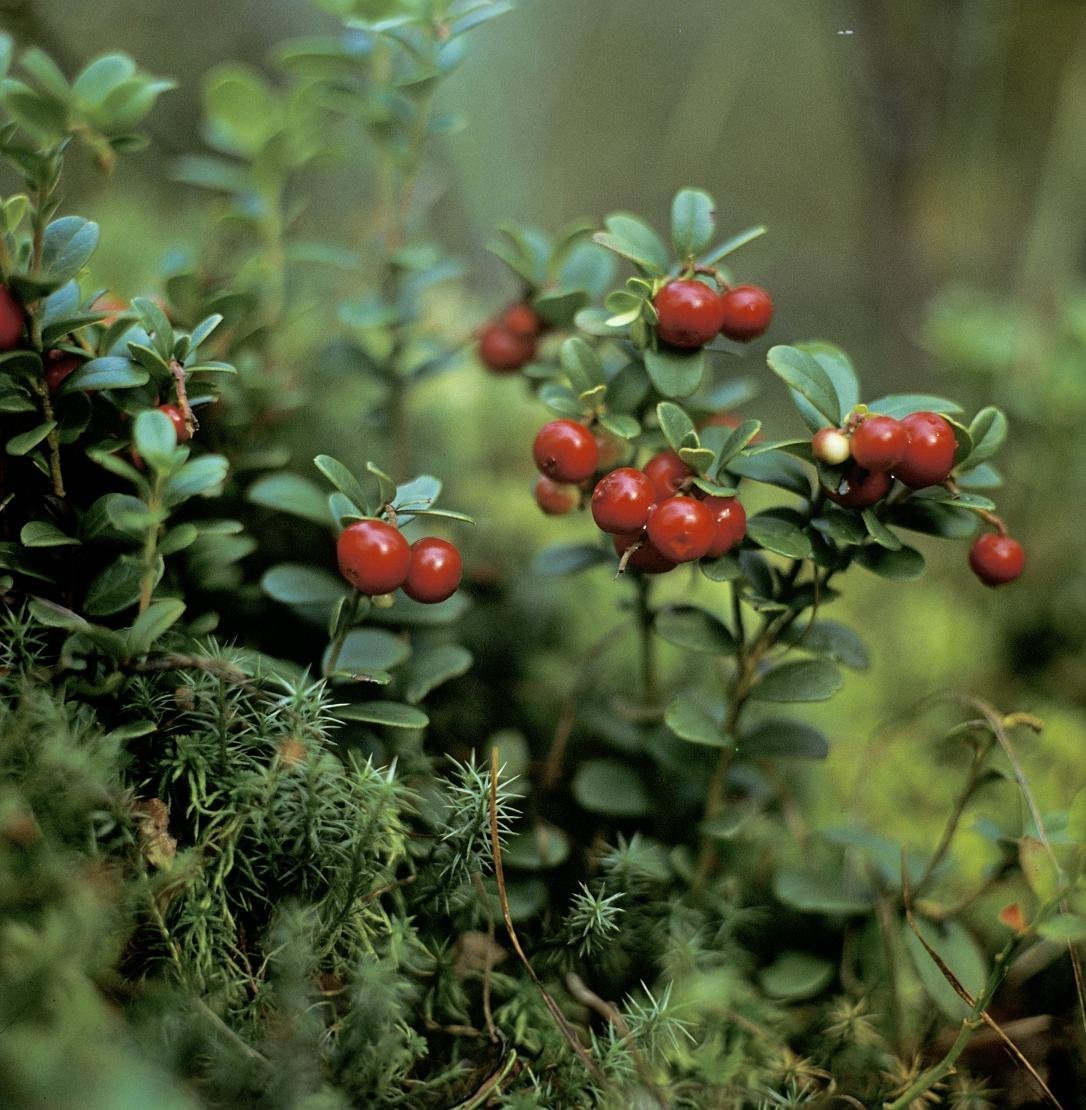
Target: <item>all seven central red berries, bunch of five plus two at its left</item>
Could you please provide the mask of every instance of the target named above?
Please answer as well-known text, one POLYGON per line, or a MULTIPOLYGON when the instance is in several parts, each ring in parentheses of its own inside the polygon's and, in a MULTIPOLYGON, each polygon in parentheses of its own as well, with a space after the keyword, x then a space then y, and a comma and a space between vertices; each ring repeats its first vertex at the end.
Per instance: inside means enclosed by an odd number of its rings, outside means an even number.
POLYGON ((604 470, 592 491, 592 517, 613 537, 621 568, 662 574, 680 563, 716 558, 746 534, 746 513, 735 497, 706 496, 694 472, 674 451, 644 466, 601 465, 597 436, 575 421, 545 424, 533 444, 540 477, 535 500, 544 513, 581 503, 581 487, 604 470))

